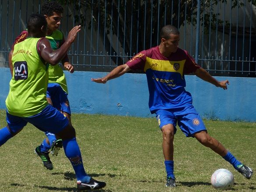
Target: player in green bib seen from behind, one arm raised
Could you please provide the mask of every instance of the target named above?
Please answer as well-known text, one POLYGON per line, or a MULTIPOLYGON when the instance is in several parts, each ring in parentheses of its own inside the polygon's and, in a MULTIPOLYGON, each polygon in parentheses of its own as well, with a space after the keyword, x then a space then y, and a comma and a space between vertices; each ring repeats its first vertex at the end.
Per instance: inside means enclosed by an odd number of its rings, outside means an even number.
POLYGON ((45 17, 32 14, 28 18, 28 37, 14 45, 13 77, 6 99, 7 126, 0 129, 0 146, 18 134, 28 122, 43 132, 51 132, 62 139, 65 155, 75 171, 78 190, 91 190, 103 188, 106 183, 86 174, 75 129, 68 118, 46 100, 49 64, 58 64, 66 55, 80 27, 72 28, 65 43, 53 50, 45 38, 45 17))

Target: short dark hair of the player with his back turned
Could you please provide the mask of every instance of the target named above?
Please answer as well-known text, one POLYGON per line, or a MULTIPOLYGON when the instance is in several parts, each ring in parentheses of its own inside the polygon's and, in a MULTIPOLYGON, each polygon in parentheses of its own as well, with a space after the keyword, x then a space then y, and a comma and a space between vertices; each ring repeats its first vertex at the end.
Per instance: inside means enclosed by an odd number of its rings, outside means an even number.
POLYGON ((42 14, 31 14, 28 17, 28 22, 27 22, 28 32, 34 33, 34 34, 39 33, 41 32, 42 26, 45 26, 45 28, 47 28, 47 21, 42 14))

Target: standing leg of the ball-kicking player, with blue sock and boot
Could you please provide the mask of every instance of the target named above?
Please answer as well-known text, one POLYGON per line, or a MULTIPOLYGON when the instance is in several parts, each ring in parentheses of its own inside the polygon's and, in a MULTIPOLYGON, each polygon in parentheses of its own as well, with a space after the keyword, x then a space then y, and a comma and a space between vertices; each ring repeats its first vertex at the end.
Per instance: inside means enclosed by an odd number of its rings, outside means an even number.
POLYGON ((164 153, 164 164, 167 172, 166 186, 167 187, 176 187, 175 177, 174 177, 174 162, 173 162, 173 153, 174 153, 174 126, 173 124, 164 125, 161 128, 163 133, 163 153, 164 153))

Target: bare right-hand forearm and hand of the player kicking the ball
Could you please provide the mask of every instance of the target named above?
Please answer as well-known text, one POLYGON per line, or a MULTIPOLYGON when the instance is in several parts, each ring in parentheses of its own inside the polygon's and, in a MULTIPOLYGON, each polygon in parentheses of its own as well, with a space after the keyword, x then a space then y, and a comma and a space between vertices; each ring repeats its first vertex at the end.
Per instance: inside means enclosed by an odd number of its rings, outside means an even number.
POLYGON ((206 82, 210 82, 211 84, 215 85, 216 87, 221 87, 224 90, 228 89, 227 84, 229 85, 229 81, 225 80, 225 81, 217 81, 217 79, 213 78, 213 76, 211 76, 207 71, 205 71, 203 68, 199 68, 196 70, 196 72, 194 72, 194 74, 203 79, 206 82))

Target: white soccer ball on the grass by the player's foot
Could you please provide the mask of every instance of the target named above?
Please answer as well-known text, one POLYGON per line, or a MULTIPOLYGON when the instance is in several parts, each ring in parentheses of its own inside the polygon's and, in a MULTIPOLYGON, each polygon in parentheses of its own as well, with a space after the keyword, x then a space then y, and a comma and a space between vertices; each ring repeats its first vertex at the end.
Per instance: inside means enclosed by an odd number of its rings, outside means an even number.
POLYGON ((212 174, 211 184, 216 189, 231 189, 234 185, 234 175, 227 169, 218 169, 212 174))

